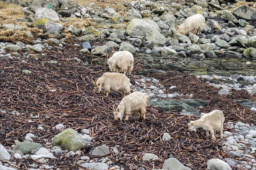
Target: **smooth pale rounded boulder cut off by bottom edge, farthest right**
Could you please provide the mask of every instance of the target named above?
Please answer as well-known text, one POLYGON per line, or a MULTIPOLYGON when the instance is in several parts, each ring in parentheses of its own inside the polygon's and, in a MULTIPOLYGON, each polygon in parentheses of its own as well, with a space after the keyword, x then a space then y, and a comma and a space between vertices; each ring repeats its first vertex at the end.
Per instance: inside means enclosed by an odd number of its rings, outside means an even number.
POLYGON ((210 159, 207 161, 207 170, 232 170, 227 162, 221 159, 210 159))

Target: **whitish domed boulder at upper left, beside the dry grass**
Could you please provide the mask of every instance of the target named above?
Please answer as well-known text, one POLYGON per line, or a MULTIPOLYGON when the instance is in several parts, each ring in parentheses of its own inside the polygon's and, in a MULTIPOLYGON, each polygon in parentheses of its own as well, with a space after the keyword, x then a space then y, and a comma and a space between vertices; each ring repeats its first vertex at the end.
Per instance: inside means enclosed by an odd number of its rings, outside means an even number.
POLYGON ((52 8, 37 8, 35 11, 35 20, 38 18, 47 18, 52 21, 59 21, 59 17, 57 12, 55 12, 52 8))

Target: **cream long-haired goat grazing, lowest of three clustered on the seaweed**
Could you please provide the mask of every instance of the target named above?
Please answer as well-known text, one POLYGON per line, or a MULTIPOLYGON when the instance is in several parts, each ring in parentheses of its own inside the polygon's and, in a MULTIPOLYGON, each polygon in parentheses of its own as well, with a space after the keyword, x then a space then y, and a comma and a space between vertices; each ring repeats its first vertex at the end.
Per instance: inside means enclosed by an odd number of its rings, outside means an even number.
POLYGON ((125 120, 128 120, 128 116, 130 116, 132 112, 140 112, 139 119, 143 117, 145 120, 148 98, 149 96, 145 96, 139 91, 125 96, 117 107, 115 107, 116 104, 113 105, 114 119, 122 121, 122 117, 125 113, 125 120))

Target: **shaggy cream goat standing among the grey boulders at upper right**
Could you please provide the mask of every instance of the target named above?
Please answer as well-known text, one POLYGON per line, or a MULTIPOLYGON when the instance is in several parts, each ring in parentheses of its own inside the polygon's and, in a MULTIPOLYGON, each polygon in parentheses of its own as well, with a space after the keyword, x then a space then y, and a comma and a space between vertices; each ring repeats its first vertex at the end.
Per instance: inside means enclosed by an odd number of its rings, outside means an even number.
POLYGON ((175 20, 176 32, 183 35, 188 35, 189 32, 199 35, 204 28, 204 21, 204 16, 201 14, 195 14, 188 17, 180 26, 177 25, 175 20))

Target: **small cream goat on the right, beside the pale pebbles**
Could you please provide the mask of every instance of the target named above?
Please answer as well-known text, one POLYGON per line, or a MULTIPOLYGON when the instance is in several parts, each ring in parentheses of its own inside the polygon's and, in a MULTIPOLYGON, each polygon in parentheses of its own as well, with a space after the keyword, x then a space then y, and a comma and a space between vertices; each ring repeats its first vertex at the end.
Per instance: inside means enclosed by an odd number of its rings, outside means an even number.
POLYGON ((189 130, 195 131, 198 127, 203 128, 206 130, 206 137, 210 134, 212 135, 212 140, 215 140, 214 133, 216 130, 220 130, 220 138, 222 139, 222 132, 223 132, 223 123, 225 121, 223 112, 220 110, 213 110, 210 113, 205 113, 200 119, 195 121, 190 121, 189 117, 189 130))

